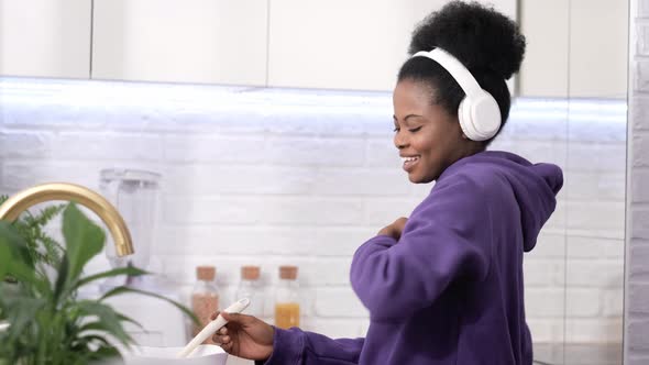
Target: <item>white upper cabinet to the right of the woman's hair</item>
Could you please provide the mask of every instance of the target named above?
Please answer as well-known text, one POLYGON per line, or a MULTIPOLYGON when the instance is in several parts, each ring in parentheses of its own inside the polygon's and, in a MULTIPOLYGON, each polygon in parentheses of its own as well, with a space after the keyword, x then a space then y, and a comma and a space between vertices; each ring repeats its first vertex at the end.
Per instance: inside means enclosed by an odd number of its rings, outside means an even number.
POLYGON ((520 95, 625 98, 627 14, 619 0, 524 0, 520 95))

